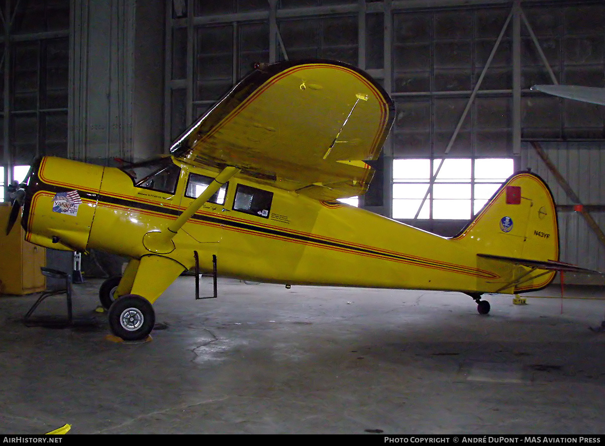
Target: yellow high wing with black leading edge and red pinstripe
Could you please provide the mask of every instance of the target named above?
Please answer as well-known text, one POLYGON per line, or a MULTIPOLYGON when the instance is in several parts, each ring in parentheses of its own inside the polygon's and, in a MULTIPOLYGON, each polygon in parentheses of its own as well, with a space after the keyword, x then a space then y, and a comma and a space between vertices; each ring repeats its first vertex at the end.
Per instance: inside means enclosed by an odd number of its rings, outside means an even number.
POLYGON ((319 200, 364 194, 394 120, 368 74, 343 62, 260 64, 171 148, 178 159, 235 166, 319 200))

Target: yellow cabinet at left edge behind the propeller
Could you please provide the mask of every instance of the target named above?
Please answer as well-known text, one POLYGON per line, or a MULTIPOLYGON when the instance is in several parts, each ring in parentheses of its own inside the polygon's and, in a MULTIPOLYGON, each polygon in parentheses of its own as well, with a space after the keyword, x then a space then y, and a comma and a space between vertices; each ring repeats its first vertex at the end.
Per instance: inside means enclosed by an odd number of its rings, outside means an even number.
POLYGON ((46 278, 40 267, 46 265, 46 249, 24 240, 21 217, 6 235, 10 203, 0 203, 0 294, 29 294, 42 291, 46 278))

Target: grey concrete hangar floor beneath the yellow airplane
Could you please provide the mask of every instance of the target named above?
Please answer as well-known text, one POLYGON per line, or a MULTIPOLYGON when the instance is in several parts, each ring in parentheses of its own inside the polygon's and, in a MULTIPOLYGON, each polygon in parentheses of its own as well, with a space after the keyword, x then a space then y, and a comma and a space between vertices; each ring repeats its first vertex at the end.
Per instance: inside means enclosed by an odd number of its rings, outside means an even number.
POLYGON ((89 326, 25 327, 36 295, 0 298, 0 433, 605 433, 603 300, 495 295, 480 316, 457 293, 220 280, 195 301, 181 277, 167 328, 120 344, 100 282, 74 286, 89 326))

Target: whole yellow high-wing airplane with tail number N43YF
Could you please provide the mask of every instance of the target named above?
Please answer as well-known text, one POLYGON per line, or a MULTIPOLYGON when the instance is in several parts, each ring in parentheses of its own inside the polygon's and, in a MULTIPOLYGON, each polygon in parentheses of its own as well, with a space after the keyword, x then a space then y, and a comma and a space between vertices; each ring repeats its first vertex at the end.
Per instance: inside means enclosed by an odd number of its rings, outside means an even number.
MULTIPOLYGON (((171 148, 110 168, 56 157, 15 191, 26 240, 131 260, 100 288, 111 331, 143 339, 182 272, 267 283, 484 293, 547 286, 557 215, 537 175, 509 178, 453 238, 335 201, 363 194, 394 119, 383 88, 341 62, 260 64, 171 148)), ((216 281, 215 281, 216 283, 216 281)))

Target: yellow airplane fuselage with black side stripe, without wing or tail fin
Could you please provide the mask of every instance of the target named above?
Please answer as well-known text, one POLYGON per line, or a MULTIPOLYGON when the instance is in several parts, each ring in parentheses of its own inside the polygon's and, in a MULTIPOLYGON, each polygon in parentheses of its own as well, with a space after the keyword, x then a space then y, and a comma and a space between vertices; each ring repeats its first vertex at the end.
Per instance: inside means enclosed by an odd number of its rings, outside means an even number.
MULTIPOLYGON (((185 223, 173 239, 174 249, 154 252, 146 246, 146 234, 162 231, 191 204, 193 179, 218 173, 171 157, 162 162, 175 172, 174 185, 166 180, 168 174, 161 185, 158 177, 158 184, 143 179, 137 186, 138 177, 133 179, 128 169, 45 157, 28 189, 22 220, 27 240, 130 258, 163 255, 185 268, 194 266, 197 251, 203 271, 212 270, 216 255, 219 275, 286 284, 490 292, 514 274, 477 258, 478 251, 489 251, 490 242, 471 240, 468 232, 443 238, 239 176, 185 223), (73 191, 79 198, 74 200, 73 191), (69 192, 73 202, 57 208, 64 198, 57 194, 69 192)), ((547 279, 552 277, 532 287, 547 279)))

